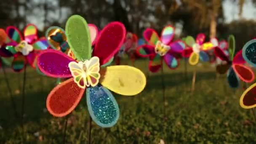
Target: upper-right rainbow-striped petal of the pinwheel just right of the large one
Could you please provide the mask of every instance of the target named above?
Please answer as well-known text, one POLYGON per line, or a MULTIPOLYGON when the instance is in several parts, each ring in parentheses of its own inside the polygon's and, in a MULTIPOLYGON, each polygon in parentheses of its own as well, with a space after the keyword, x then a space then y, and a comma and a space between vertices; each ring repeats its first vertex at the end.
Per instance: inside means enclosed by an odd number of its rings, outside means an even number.
POLYGON ((163 44, 168 45, 173 40, 173 37, 175 35, 175 28, 171 25, 166 26, 163 28, 161 33, 161 41, 163 44))

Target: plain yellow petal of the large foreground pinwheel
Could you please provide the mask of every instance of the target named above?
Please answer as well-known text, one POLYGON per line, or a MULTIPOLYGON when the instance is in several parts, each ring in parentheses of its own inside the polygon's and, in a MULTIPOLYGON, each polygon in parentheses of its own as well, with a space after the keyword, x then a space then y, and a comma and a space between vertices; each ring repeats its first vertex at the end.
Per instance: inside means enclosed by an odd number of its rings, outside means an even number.
POLYGON ((135 67, 110 66, 101 68, 100 74, 101 85, 121 95, 136 95, 146 86, 144 73, 135 67))

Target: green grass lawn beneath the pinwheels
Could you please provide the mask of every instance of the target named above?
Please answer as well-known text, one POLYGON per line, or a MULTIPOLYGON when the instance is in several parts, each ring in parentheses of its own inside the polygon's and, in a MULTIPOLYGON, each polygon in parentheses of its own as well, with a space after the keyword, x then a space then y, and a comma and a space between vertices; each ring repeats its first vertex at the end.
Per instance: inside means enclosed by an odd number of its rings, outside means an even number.
MULTIPOLYGON (((122 61, 130 64, 129 60, 122 61)), ((136 67, 148 75, 148 61, 136 61, 136 67)), ((120 107, 120 119, 112 128, 100 128, 93 123, 93 144, 165 144, 188 143, 235 143, 256 142, 256 123, 251 110, 242 109, 239 99, 242 86, 237 90, 229 88, 226 75, 216 78, 215 68, 209 64, 188 67, 184 76, 184 63, 179 69, 164 67, 166 93, 166 118, 163 117, 163 94, 160 72, 149 74, 147 86, 135 97, 115 94, 120 107), (195 92, 189 90, 192 72, 197 69, 195 92)), ((15 102, 21 113, 21 92, 23 73, 8 71, 15 102)), ((0 72, 0 143, 21 143, 20 119, 15 118, 0 72)), ((64 118, 56 118, 45 111, 48 93, 56 80, 38 75, 33 69, 27 72, 24 135, 26 143, 61 144, 64 136, 64 118), (39 132, 39 136, 34 133, 39 132)), ((68 116, 66 142, 87 143, 88 110, 85 99, 68 116)))

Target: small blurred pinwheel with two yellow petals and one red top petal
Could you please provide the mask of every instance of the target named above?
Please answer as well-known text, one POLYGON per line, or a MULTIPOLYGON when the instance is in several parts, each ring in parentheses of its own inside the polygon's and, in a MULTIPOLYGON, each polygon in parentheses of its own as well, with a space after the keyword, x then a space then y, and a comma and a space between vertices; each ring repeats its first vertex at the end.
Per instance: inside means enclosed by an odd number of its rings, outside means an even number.
POLYGON ((205 51, 213 49, 211 42, 204 43, 205 34, 198 34, 195 40, 192 36, 187 36, 185 39, 186 44, 189 48, 184 49, 182 56, 185 58, 189 57, 189 64, 196 65, 201 61, 209 61, 210 58, 205 51))

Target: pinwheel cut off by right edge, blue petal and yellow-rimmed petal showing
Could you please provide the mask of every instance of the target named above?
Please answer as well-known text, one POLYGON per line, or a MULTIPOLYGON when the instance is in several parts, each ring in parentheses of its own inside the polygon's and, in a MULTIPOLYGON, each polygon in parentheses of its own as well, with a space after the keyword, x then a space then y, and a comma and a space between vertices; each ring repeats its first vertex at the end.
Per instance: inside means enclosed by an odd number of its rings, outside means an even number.
MULTIPOLYGON (((246 62, 251 64, 253 67, 256 67, 256 39, 248 41, 242 50, 243 58, 246 62)), ((245 109, 251 109, 256 107, 256 83, 247 88, 241 98, 240 106, 245 109)))

